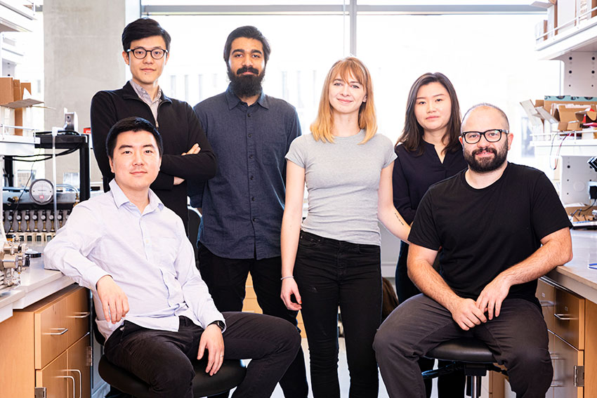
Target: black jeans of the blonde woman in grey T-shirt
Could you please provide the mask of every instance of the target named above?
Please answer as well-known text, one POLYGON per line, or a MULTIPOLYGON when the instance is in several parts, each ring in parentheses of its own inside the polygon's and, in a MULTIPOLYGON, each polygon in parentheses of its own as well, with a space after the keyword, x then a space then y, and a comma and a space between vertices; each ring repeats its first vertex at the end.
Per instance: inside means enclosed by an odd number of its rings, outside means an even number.
POLYGON ((350 398, 377 397, 372 348, 381 322, 379 246, 301 232, 294 277, 301 293, 315 398, 339 398, 338 306, 346 341, 350 398))

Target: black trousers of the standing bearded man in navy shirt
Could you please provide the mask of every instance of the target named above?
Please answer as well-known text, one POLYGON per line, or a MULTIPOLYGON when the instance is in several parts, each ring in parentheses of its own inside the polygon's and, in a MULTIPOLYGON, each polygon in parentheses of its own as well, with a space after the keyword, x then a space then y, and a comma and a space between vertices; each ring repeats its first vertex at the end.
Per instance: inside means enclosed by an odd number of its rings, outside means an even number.
MULTIPOLYGON (((294 325, 296 333, 297 311, 288 310, 282 298, 282 260, 280 257, 263 260, 235 260, 221 258, 199 243, 199 272, 209 288, 209 293, 220 311, 242 311, 247 276, 251 272, 257 303, 263 314, 285 319, 294 325)), ((299 347, 296 358, 280 380, 286 398, 306 398, 309 392, 305 356, 299 347)))

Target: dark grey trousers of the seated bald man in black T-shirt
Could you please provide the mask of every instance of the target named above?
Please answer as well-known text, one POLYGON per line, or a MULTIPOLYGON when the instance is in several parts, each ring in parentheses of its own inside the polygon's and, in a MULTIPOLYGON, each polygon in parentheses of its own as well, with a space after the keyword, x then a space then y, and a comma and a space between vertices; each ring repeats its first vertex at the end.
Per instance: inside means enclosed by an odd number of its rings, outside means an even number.
POLYGON ((464 331, 450 311, 423 294, 399 305, 375 336, 376 357, 389 396, 424 398, 417 361, 439 343, 461 337, 487 344, 497 362, 506 366, 516 397, 545 397, 553 369, 547 328, 536 304, 508 298, 499 317, 464 331))

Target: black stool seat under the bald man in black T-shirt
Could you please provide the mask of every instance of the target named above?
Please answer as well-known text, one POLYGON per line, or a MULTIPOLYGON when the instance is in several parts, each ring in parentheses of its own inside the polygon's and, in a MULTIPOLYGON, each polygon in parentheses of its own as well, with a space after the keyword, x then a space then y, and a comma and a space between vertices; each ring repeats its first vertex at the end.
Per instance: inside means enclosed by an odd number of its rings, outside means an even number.
POLYGON ((455 338, 440 343, 426 354, 426 357, 442 361, 474 362, 493 364, 496 360, 487 345, 475 338, 455 338))

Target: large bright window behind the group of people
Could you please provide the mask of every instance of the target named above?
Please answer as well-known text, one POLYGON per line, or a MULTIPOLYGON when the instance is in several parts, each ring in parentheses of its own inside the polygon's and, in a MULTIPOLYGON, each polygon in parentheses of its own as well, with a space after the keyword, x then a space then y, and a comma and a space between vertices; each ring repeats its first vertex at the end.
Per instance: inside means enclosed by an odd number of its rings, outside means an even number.
POLYGON ((443 72, 463 112, 478 102, 504 108, 516 133, 510 159, 533 164, 518 102, 560 92, 560 62, 534 54, 534 26, 545 15, 529 13, 527 1, 179 0, 171 5, 177 15, 164 15, 169 6, 160 1, 143 4, 173 37, 169 76, 161 80, 167 93, 195 105, 224 91, 225 38, 235 27, 255 25, 273 48, 265 91, 297 108, 305 132, 325 74, 351 48, 373 74, 380 131, 393 141, 412 82, 424 72, 443 72), (430 10, 438 13, 421 15, 430 10))

